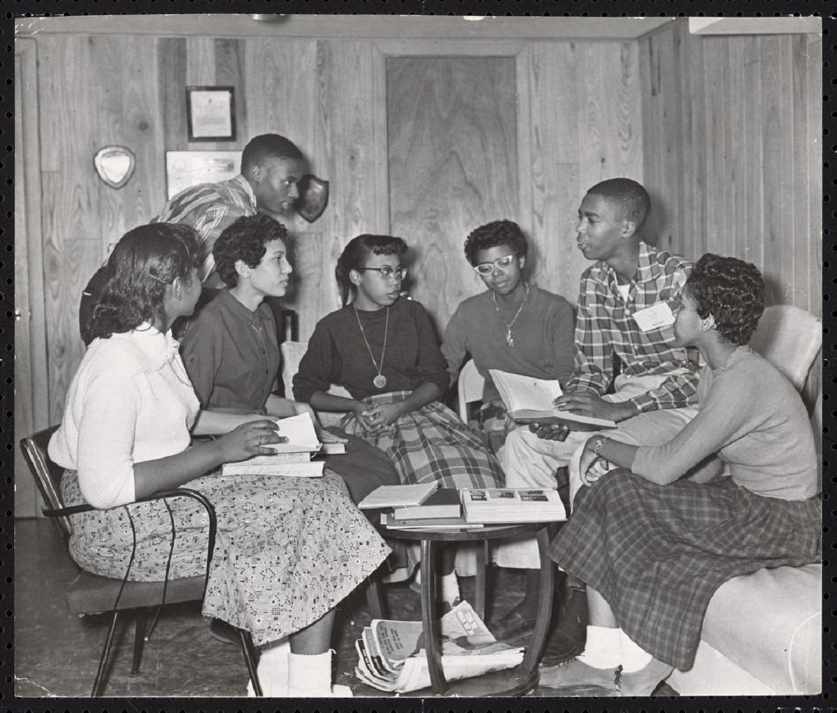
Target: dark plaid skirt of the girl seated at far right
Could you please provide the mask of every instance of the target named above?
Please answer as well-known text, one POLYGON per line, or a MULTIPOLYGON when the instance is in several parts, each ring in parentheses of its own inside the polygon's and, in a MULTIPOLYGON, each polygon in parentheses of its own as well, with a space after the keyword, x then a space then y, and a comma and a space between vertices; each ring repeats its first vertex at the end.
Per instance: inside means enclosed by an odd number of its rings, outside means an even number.
POLYGON ((655 485, 612 470, 576 495, 549 556, 656 659, 691 669, 706 608, 732 577, 822 561, 822 500, 756 495, 724 478, 655 485))

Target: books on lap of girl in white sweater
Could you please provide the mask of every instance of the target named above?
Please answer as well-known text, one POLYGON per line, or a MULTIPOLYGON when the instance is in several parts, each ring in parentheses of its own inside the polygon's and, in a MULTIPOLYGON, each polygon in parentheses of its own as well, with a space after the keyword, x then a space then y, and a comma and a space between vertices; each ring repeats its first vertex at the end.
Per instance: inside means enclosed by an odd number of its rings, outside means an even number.
POLYGON ((264 444, 274 451, 271 455, 254 455, 253 458, 225 463, 223 475, 285 475, 296 478, 321 478, 325 463, 314 460, 318 454, 346 453, 345 444, 321 444, 316 437, 310 413, 300 413, 290 418, 276 419, 280 436, 286 442, 264 444))

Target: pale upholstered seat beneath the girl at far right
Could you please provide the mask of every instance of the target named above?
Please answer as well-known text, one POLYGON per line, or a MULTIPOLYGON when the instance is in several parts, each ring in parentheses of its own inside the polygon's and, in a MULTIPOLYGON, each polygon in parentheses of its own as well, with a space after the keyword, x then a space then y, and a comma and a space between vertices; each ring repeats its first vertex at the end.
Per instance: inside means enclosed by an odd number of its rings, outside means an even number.
POLYGON ((711 599, 702 641, 778 693, 819 690, 821 578, 819 564, 734 577, 711 599))

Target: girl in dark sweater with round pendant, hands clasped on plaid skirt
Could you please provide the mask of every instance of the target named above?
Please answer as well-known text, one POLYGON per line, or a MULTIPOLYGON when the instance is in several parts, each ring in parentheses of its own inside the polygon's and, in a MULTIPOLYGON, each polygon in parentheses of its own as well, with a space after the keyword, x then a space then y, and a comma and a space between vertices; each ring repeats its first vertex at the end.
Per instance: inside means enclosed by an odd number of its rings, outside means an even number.
MULTIPOLYGON (((343 307, 316 326, 294 377, 294 398, 345 412, 342 428, 392 459, 403 483, 444 488, 503 484, 500 464, 480 435, 439 403, 448 389, 444 357, 424 307, 401 299, 403 239, 358 235, 337 261, 343 307), (351 301, 350 301, 351 298, 351 301), (345 387, 350 398, 328 393, 345 387)), ((444 562, 442 599, 455 603, 453 562, 444 562)))

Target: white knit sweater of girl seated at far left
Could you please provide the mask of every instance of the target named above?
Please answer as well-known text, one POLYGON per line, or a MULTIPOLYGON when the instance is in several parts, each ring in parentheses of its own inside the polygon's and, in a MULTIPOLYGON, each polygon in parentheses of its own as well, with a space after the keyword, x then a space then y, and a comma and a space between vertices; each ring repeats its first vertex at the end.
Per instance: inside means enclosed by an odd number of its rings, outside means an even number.
POLYGON ((177 347, 143 324, 94 340, 81 360, 49 457, 78 471, 90 505, 133 502, 135 463, 187 449, 199 404, 177 347))

